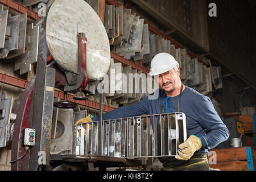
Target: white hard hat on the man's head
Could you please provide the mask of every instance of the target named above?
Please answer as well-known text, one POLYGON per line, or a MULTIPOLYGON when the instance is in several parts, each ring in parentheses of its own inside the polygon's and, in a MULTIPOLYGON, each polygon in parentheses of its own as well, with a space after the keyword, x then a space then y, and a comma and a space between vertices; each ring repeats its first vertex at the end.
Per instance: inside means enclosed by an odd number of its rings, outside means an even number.
POLYGON ((151 61, 150 76, 155 76, 167 72, 174 67, 179 67, 179 63, 168 53, 158 53, 151 61))

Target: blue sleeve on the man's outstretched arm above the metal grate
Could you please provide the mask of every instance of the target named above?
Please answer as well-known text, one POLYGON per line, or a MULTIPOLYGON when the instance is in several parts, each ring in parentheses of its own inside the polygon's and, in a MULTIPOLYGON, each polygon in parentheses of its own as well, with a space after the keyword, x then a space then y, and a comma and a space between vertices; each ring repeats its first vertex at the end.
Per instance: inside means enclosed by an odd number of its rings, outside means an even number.
MULTIPOLYGON (((109 111, 106 114, 102 114, 102 120, 108 119, 118 119, 118 118, 127 118, 133 117, 142 114, 148 114, 148 107, 150 106, 148 97, 143 100, 136 102, 135 104, 118 107, 112 111, 109 111)), ((99 116, 93 117, 93 121, 98 121, 99 116)))

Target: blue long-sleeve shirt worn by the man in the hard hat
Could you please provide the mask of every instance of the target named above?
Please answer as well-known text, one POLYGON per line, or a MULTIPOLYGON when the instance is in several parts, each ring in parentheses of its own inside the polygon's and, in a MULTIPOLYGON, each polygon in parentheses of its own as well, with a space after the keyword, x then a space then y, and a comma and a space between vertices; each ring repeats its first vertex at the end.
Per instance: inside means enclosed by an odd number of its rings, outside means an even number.
MULTIPOLYGON (((167 96, 162 89, 158 89, 156 92, 159 92, 157 99, 150 100, 146 97, 133 105, 118 107, 113 111, 102 114, 102 119, 126 118, 142 114, 161 114, 163 102, 167 96)), ((155 93, 151 95, 153 94, 155 93)), ((172 113, 177 112, 178 100, 179 95, 168 99, 172 113)), ((210 98, 188 86, 181 93, 180 112, 186 115, 188 135, 196 135, 202 142, 199 152, 204 152, 208 155, 208 149, 216 147, 219 143, 229 138, 229 131, 218 116, 210 98), (209 132, 208 134, 206 134, 207 131, 209 132)), ((93 121, 98 121, 98 116, 94 117, 93 121)))

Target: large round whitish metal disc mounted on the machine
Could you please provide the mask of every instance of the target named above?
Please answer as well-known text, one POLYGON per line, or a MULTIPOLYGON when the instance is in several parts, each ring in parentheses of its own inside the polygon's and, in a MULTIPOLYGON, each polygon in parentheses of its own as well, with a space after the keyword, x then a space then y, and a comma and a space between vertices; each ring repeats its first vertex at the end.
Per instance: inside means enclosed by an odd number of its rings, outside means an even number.
POLYGON ((104 76, 110 65, 110 46, 104 24, 84 0, 55 0, 46 20, 46 40, 55 61, 77 73, 77 34, 85 33, 86 67, 90 79, 104 76))

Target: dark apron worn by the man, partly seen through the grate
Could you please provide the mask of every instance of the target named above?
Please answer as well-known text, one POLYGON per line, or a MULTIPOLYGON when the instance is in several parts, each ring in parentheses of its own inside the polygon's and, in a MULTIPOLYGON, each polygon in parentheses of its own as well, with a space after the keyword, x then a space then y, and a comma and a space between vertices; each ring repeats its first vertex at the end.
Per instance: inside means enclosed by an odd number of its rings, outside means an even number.
MULTIPOLYGON (((180 97, 181 97, 181 92, 183 90, 183 84, 181 84, 180 88, 180 95, 179 95, 179 101, 178 101, 178 106, 177 106, 177 112, 180 112, 180 97)), ((167 101, 166 101, 167 102, 167 101)), ((162 107, 162 114, 166 113, 164 111, 164 105, 162 107)), ((164 133, 167 133, 167 118, 163 117, 164 120, 164 133)), ((175 118, 171 117, 171 127, 175 127, 175 118)), ((158 134, 160 134, 160 125, 158 125, 158 134)), ((183 131, 182 125, 179 125, 179 131, 183 131)), ((180 137, 183 138, 183 132, 180 132, 180 137)), ((187 131, 187 137, 188 137, 188 131, 187 131)), ((160 138, 160 137, 158 137, 160 138)), ((164 141, 168 142, 168 138, 165 138, 164 141)), ((158 141, 158 154, 160 154, 160 141, 158 141)), ((168 145, 168 143, 165 143, 168 145)), ((175 146, 172 146, 172 148, 175 148, 175 146)), ((166 150, 168 150, 167 147, 165 147, 166 150)), ((168 151, 165 151, 166 154, 168 154, 168 151)), ((209 171, 209 163, 207 160, 207 155, 205 153, 200 153, 196 151, 194 155, 188 159, 188 160, 177 160, 175 157, 161 157, 158 158, 161 163, 163 163, 163 171, 209 171)))

